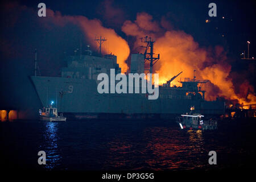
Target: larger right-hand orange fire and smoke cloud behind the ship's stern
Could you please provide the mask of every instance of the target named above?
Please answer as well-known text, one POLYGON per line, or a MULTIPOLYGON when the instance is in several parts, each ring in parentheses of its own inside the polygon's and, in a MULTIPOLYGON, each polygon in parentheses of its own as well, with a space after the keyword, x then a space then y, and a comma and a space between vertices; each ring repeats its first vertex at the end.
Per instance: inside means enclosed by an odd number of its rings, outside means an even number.
MULTIPOLYGON (((235 93, 234 85, 229 78, 231 66, 227 64, 228 57, 221 46, 207 51, 200 48, 191 35, 183 31, 166 30, 164 22, 160 24, 152 21, 152 16, 146 13, 137 14, 137 20, 127 20, 122 27, 126 35, 137 37, 134 47, 141 46, 141 37, 148 35, 155 38, 155 52, 160 53, 160 60, 155 64, 154 71, 159 73, 159 82, 170 80, 177 73, 183 71, 181 77, 193 77, 194 69, 196 78, 209 80, 207 100, 214 100, 217 96, 228 100, 237 100, 240 104, 255 103, 253 86, 248 82, 243 84, 241 90, 246 94, 235 93), (248 92, 250 89, 250 92, 248 92)), ((176 78, 172 84, 179 85, 176 78)))

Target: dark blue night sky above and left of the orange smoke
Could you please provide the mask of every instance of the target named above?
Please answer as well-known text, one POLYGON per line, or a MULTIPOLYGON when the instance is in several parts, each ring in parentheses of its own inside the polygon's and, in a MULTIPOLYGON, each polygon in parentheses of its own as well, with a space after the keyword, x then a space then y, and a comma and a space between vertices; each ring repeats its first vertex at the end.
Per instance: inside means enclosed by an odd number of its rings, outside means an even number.
MULTIPOLYGON (((47 9, 60 11, 62 15, 99 19, 104 27, 113 28, 124 39, 127 37, 121 30, 123 22, 134 21, 137 13, 148 13, 158 22, 164 17, 173 30, 192 35, 200 47, 224 47, 228 56, 235 60, 232 69, 238 72, 240 64, 236 64, 236 61, 240 60, 243 50, 247 51, 247 40, 251 42, 250 55, 256 56, 255 1, 3 1, 0 35, 1 108, 38 107, 40 104, 35 104, 38 102, 36 93, 31 91, 31 83, 27 81, 27 76, 33 73, 34 49, 38 49, 42 75, 56 76, 65 65, 63 52, 73 53, 83 36, 81 29, 74 24, 58 27, 52 26, 50 22, 47 24, 50 28, 43 27, 35 14, 40 2, 44 2, 47 9), (208 16, 211 2, 217 5, 217 17, 208 16), (16 6, 13 9, 13 6, 4 6, 6 4, 16 6), (205 23, 206 19, 210 22, 205 23)), ((82 44, 88 44, 86 39, 82 41, 82 44)), ((254 78, 250 82, 255 88, 254 78)))

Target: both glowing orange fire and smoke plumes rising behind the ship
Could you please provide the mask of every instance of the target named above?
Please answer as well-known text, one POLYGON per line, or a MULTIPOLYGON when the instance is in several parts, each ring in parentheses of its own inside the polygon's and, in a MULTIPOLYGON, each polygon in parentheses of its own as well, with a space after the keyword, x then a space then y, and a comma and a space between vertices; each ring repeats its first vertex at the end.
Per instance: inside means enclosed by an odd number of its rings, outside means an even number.
MULTIPOLYGON (((15 6, 9 7, 9 10, 16 6, 19 5, 15 4, 15 6)), ((15 10, 34 11, 26 6, 15 10)), ((85 16, 61 15, 58 11, 54 12, 50 9, 47 9, 46 18, 38 18, 37 20, 46 28, 51 28, 53 24, 60 27, 69 23, 75 24, 81 28, 86 40, 89 40, 94 49, 98 47, 94 40, 95 37, 105 37, 108 41, 103 44, 102 52, 117 55, 117 63, 122 68, 122 73, 129 69, 126 63, 130 55, 129 45, 112 28, 102 26, 100 20, 88 19, 85 16)), ((133 45, 134 52, 142 51, 138 50, 142 46, 140 38, 145 35, 154 38, 154 52, 160 53, 160 60, 154 65, 154 72, 159 73, 160 84, 183 71, 171 83, 171 85, 179 86, 180 77, 191 78, 194 70, 196 70, 196 78, 210 81, 205 94, 207 100, 214 100, 217 96, 222 96, 227 100, 235 100, 243 105, 256 103, 254 87, 249 84, 249 81, 245 80, 242 84, 238 84, 240 88, 233 84, 233 77, 230 76, 231 65, 228 64, 229 58, 221 46, 212 49, 200 48, 191 35, 183 31, 173 30, 165 19, 160 22, 154 21, 152 16, 147 13, 138 13, 134 22, 126 20, 122 24, 122 31, 127 36, 137 38, 133 45)))

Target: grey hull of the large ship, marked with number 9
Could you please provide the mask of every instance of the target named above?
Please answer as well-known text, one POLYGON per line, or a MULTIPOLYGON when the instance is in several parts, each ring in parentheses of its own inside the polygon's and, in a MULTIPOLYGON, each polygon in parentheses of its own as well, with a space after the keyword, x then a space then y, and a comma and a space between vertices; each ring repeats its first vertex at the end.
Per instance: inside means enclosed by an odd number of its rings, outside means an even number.
POLYGON ((31 80, 44 107, 55 101, 60 113, 75 119, 175 118, 191 106, 205 115, 224 113, 224 102, 193 100, 179 88, 159 88, 159 98, 148 100, 147 94, 100 94, 96 80, 42 76, 31 80))

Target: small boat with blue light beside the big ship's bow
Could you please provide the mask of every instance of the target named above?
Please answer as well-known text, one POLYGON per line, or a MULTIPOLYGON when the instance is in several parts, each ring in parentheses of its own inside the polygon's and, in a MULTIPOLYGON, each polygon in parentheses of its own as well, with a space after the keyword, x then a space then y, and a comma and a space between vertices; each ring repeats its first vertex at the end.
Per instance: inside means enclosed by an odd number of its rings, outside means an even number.
POLYGON ((67 118, 63 117, 62 113, 58 115, 56 107, 44 107, 42 110, 39 109, 39 118, 41 121, 66 121, 67 118))

